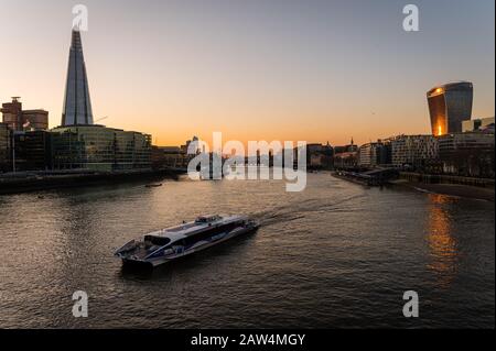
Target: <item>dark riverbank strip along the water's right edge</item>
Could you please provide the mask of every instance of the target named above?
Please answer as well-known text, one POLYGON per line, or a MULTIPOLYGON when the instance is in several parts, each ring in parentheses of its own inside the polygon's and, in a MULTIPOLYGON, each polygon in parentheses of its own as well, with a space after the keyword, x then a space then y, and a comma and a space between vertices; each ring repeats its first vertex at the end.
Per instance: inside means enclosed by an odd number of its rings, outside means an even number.
POLYGON ((420 182, 410 182, 407 179, 391 180, 392 186, 406 187, 417 191, 463 197, 477 200, 494 201, 494 187, 476 187, 460 184, 425 184, 420 182))

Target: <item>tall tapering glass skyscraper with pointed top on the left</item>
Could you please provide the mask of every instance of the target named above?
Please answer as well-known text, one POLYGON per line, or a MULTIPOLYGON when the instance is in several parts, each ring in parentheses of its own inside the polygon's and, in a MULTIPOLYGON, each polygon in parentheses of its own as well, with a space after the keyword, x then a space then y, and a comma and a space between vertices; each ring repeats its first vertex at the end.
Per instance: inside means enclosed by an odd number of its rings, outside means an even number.
POLYGON ((65 86, 62 125, 93 124, 91 100, 89 98, 88 77, 83 55, 83 43, 78 30, 73 30, 67 83, 65 86))

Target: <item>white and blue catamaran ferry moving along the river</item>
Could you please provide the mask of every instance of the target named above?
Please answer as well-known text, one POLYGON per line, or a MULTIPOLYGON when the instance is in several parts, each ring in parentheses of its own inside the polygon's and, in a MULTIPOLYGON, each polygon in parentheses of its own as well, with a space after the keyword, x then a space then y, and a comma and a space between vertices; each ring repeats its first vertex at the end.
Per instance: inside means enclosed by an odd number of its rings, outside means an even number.
POLYGON ((245 216, 204 216, 194 222, 149 233, 116 252, 125 264, 158 266, 235 237, 255 232, 259 224, 245 216))

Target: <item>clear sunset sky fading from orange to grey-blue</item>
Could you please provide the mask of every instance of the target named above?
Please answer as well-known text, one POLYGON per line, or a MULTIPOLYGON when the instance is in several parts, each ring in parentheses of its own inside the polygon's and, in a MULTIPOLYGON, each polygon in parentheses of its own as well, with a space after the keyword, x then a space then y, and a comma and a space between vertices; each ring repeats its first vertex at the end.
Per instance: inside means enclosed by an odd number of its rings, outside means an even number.
POLYGON ((77 3, 95 119, 161 145, 429 133, 425 92, 453 80, 495 114, 494 0, 0 0, 0 100, 52 127, 77 3), (420 32, 402 30, 407 3, 420 32))

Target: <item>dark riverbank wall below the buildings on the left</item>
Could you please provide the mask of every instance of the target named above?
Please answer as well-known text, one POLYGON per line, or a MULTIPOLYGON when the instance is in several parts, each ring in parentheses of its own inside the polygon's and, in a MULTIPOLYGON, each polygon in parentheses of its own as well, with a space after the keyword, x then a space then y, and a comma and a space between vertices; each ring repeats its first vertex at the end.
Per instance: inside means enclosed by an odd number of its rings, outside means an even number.
POLYGON ((0 175, 0 195, 31 193, 47 189, 69 188, 78 186, 126 183, 136 180, 157 180, 177 178, 181 169, 145 169, 112 173, 69 172, 69 173, 24 173, 0 175))

